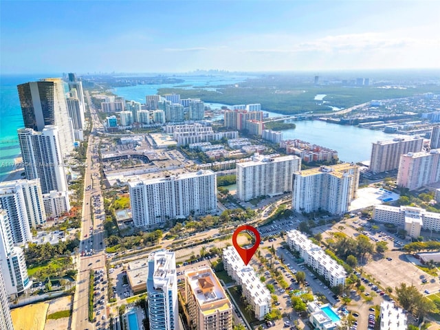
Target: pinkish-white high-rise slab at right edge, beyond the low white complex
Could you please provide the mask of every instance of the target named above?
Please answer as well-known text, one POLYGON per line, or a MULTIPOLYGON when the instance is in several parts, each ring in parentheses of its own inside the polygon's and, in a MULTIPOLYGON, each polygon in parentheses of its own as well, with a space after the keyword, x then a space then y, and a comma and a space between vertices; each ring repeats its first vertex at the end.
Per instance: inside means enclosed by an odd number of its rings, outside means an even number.
POLYGON ((397 186, 416 190, 440 181, 440 149, 401 155, 397 186))

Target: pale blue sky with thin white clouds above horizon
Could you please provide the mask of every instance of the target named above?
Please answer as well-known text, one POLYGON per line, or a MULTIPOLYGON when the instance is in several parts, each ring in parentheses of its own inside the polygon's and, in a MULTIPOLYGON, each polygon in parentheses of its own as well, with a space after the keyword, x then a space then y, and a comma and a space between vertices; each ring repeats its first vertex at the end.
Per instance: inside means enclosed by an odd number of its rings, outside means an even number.
POLYGON ((440 1, 0 1, 0 73, 440 68, 440 1))

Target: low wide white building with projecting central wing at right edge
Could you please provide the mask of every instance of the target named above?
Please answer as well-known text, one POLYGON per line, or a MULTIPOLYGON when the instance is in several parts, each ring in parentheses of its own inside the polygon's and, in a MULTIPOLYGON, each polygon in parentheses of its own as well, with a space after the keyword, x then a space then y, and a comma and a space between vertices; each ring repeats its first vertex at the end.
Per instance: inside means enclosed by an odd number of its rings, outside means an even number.
POLYGON ((421 228, 440 231, 440 213, 428 212, 423 208, 376 205, 373 209, 373 219, 404 226, 408 235, 412 237, 419 236, 421 228))

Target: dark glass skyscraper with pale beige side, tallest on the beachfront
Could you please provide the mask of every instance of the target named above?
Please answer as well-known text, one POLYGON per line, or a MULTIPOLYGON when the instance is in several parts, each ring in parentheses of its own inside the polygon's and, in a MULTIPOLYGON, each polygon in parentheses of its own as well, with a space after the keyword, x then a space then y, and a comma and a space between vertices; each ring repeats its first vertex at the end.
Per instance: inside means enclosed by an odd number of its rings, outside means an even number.
POLYGON ((74 129, 67 111, 61 78, 45 78, 17 86, 25 127, 43 131, 47 125, 58 126, 62 155, 74 148, 74 129))

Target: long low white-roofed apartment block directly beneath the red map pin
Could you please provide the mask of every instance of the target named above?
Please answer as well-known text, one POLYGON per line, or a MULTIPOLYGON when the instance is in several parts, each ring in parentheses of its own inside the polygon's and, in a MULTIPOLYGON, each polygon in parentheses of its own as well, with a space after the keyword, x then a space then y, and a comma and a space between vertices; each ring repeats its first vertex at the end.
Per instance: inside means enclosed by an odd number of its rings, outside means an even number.
POLYGON ((259 276, 250 266, 245 266, 243 260, 233 246, 223 249, 223 267, 228 275, 241 286, 243 296, 254 309, 257 320, 264 320, 270 313, 272 297, 269 290, 261 283, 259 276))

